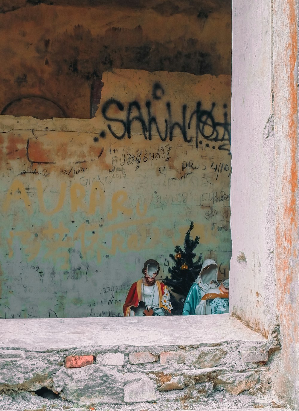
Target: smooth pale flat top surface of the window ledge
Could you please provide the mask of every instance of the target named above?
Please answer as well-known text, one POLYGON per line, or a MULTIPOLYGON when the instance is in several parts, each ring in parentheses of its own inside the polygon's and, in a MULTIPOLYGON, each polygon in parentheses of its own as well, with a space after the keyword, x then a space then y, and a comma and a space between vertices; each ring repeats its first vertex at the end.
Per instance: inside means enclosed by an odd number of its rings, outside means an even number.
POLYGON ((47 351, 89 346, 172 346, 252 342, 261 335, 230 314, 210 316, 3 319, 0 348, 47 351))

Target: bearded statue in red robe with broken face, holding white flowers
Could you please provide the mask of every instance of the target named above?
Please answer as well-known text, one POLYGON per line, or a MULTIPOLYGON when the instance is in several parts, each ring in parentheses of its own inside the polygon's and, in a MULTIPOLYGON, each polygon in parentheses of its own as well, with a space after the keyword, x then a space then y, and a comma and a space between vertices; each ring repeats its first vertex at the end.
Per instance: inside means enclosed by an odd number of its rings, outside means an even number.
POLYGON ((129 316, 164 316, 170 313, 172 305, 168 288, 156 280, 160 266, 156 260, 147 260, 143 265, 144 277, 132 284, 123 312, 129 316))

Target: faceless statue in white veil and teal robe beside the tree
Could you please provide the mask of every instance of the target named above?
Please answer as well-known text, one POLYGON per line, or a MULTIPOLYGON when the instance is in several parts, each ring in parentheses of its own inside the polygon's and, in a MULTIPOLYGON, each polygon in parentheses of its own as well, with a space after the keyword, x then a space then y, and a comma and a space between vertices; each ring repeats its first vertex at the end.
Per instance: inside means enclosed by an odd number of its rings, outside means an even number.
POLYGON ((229 312, 228 280, 217 281, 216 261, 207 259, 184 302, 183 315, 223 314, 229 312))

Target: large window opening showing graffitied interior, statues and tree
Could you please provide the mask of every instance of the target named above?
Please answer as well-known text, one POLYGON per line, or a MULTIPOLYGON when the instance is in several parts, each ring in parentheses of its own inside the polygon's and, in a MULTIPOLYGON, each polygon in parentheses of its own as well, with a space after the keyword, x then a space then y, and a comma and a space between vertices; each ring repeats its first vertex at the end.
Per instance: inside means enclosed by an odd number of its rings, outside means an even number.
MULTIPOLYGON (((122 316, 149 259, 159 263, 156 286, 168 290, 151 289, 142 315, 163 304, 181 315, 192 287, 189 314, 205 294, 205 309, 226 312, 231 3, 163 4, 122 6, 130 17, 116 25, 113 2, 106 31, 87 28, 104 6, 65 6, 65 30, 40 26, 32 62, 29 34, 16 30, 24 47, 4 59, 12 86, 2 114, 35 119, 2 117, 11 130, 1 135, 2 318, 122 316), (216 277, 201 295, 203 261, 216 277)), ((57 2, 28 7, 45 13, 57 2)))

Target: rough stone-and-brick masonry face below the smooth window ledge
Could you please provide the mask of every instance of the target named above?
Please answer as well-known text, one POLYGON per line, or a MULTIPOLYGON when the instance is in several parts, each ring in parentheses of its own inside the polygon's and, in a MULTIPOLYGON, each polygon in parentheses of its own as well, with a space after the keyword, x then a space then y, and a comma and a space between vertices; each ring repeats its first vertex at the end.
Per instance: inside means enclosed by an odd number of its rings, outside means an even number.
POLYGON ((271 388, 268 350, 267 342, 7 349, 0 351, 0 392, 48 387, 79 406, 159 402, 169 392, 177 401, 213 390, 264 395, 271 388))

